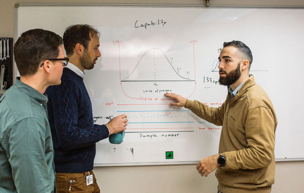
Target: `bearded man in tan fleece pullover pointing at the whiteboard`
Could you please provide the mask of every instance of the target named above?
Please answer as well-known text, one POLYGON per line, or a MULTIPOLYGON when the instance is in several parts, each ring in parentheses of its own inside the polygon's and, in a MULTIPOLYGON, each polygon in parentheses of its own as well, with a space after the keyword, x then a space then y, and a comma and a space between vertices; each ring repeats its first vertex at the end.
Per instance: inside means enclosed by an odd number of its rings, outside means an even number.
POLYGON ((240 41, 225 42, 219 54, 219 83, 228 87, 218 108, 174 93, 171 106, 190 109, 200 118, 222 126, 219 154, 196 166, 201 176, 216 170, 218 192, 270 192, 275 183, 275 129, 277 117, 266 92, 249 74, 252 53, 240 41))

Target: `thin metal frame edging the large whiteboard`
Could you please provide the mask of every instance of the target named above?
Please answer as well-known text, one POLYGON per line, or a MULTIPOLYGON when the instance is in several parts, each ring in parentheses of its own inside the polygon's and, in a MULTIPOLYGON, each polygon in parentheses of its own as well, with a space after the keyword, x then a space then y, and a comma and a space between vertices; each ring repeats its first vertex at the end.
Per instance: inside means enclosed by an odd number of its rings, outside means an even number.
MULTIPOLYGON (((166 7, 166 8, 237 8, 237 9, 304 9, 304 6, 236 6, 236 5, 145 5, 145 4, 15 4, 15 42, 18 38, 18 8, 22 7, 35 7, 35 6, 99 6, 99 7, 166 7)), ((15 63, 14 76, 20 76, 17 71, 15 63)), ((13 79, 15 80, 15 77, 13 79)), ((102 166, 137 166, 137 165, 177 165, 177 164, 197 164, 197 161, 173 161, 173 162, 144 162, 144 163, 107 163, 107 164, 94 164, 95 167, 102 166)), ((303 158, 276 158, 275 161, 304 161, 303 158)))

